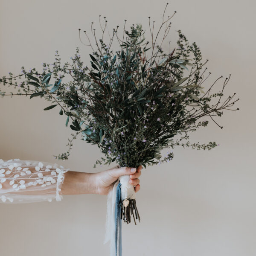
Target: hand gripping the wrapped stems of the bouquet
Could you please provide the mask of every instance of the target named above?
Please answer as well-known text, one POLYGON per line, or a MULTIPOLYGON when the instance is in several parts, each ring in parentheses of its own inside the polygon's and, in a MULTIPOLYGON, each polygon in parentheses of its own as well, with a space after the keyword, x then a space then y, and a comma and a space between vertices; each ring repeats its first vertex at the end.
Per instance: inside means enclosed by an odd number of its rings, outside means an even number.
POLYGON ((108 195, 114 183, 121 175, 130 175, 130 184, 135 186, 135 192, 140 190, 140 180, 142 166, 136 168, 122 167, 119 165, 112 169, 96 173, 96 194, 108 195))

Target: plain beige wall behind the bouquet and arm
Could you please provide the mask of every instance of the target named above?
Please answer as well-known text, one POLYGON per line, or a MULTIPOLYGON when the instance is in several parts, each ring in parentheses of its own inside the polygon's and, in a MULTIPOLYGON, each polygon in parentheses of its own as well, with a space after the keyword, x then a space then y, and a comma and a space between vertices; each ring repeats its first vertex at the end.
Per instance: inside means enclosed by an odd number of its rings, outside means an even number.
MULTIPOLYGON (((159 24, 166 1, 0 0, 0 76, 20 67, 41 69, 58 49, 68 61, 81 47, 88 63, 89 48, 79 41, 78 28, 98 26, 98 15, 109 27, 148 16, 159 24)), ((255 169, 255 9, 253 0, 170 0, 170 40, 181 29, 201 47, 212 72, 232 77, 227 93, 236 92, 240 111, 230 111, 193 134, 192 141, 217 141, 212 151, 175 149, 163 166, 143 169, 137 194, 142 221, 123 225, 123 256, 254 256, 256 255, 255 169), (154 202, 154 211, 150 203, 154 202)), ((166 47, 166 45, 165 45, 166 47)), ((221 84, 219 84, 221 87, 221 84)), ((66 150, 70 129, 58 109, 43 111, 48 102, 25 97, 0 98, 0 158, 55 162, 66 150)), ((74 171, 96 172, 97 147, 76 140, 70 159, 57 163, 74 171)), ((108 167, 103 167, 108 168, 108 167)), ((103 245, 106 197, 65 196, 61 202, 0 204, 0 255, 108 255, 103 245)))

